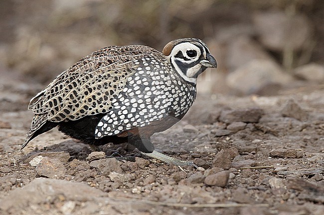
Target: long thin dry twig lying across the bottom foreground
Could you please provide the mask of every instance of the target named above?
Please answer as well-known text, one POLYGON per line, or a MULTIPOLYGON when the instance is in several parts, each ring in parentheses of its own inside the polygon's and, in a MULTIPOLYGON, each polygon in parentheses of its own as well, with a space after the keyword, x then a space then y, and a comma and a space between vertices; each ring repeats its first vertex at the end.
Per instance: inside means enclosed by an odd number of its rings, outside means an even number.
POLYGON ((168 207, 186 207, 186 208, 231 208, 231 207, 269 207, 268 204, 240 204, 240 203, 229 203, 229 204, 181 204, 181 203, 167 203, 167 202, 154 202, 141 199, 130 199, 123 197, 109 197, 112 200, 146 203, 158 206, 168 207))

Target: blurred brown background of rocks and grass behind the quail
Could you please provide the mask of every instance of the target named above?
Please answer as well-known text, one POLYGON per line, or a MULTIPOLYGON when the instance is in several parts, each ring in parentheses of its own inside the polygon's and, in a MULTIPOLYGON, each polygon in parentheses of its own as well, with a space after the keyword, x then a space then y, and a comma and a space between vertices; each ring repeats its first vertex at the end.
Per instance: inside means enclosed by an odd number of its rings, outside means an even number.
POLYGON ((323 0, 1 0, 0 74, 46 86, 91 52, 202 39, 219 68, 198 92, 276 95, 324 84, 323 0))

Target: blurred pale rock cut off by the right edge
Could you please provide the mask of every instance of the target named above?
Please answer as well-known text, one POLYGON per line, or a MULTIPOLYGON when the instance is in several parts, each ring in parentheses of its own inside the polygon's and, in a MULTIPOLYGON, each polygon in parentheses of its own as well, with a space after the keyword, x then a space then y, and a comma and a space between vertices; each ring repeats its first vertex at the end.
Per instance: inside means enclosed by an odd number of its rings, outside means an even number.
POLYGON ((324 66, 319 64, 307 64, 294 70, 294 74, 302 79, 324 83, 324 66))

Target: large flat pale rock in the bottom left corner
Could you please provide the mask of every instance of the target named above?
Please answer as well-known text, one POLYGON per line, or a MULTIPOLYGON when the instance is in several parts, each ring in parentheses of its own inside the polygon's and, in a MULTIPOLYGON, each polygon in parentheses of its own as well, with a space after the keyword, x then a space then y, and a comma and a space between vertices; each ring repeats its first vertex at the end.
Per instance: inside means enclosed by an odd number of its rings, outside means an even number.
MULTIPOLYGON (((2 214, 1 212, 4 214, 6 212, 21 214, 22 211, 25 212, 24 214, 38 214, 35 211, 36 208, 38 210, 42 208, 42 212, 46 211, 45 208, 51 209, 51 213, 48 211, 45 214, 64 214, 65 204, 63 203, 96 203, 100 197, 105 196, 107 196, 107 193, 92 188, 86 183, 37 178, 23 189, 15 189, 2 199, 0 201, 0 214, 2 214), (58 211, 55 213, 53 210, 58 211)), ((96 211, 100 211, 100 208, 97 208, 96 211)), ((84 213, 79 212, 78 214, 84 213)))

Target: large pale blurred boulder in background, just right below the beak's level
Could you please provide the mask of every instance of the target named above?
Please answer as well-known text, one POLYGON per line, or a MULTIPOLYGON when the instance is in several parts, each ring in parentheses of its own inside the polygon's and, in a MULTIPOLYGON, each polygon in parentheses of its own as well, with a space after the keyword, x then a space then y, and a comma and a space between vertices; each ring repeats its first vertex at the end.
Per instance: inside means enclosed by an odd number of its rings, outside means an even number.
POLYGON ((293 77, 271 60, 256 59, 239 67, 226 77, 226 83, 243 94, 253 94, 271 84, 285 85, 293 77))

